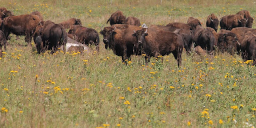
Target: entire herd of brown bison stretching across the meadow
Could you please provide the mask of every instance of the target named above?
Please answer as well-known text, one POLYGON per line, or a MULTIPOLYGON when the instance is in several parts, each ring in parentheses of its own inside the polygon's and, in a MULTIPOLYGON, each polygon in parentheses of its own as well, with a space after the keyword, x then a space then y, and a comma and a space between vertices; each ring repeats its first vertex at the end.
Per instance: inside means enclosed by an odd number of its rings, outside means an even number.
MULTIPOLYGON (((249 11, 242 10, 218 20, 212 13, 207 17, 206 28, 198 19, 189 17, 187 23, 172 22, 166 26, 140 25, 138 18, 126 18, 122 11, 116 11, 108 19, 111 26, 101 27, 103 43, 107 50, 122 57, 126 63, 131 55, 150 57, 172 53, 181 65, 181 54, 185 48, 189 54, 193 49, 198 54, 215 54, 215 51, 241 54, 242 59, 256 59, 256 29, 252 29, 253 18, 249 11), (218 26, 220 30, 217 33, 218 26), (104 27, 104 28, 103 28, 104 27)), ((0 54, 6 50, 9 35, 25 35, 25 42, 31 45, 33 37, 37 53, 58 49, 63 51, 90 51, 87 45, 95 45, 99 52, 99 34, 95 29, 82 26, 81 20, 71 18, 61 23, 44 21, 38 11, 14 16, 5 7, 0 8, 0 54), (68 33, 66 31, 68 30, 68 33)), ((162 58, 163 61, 163 58, 162 58)))

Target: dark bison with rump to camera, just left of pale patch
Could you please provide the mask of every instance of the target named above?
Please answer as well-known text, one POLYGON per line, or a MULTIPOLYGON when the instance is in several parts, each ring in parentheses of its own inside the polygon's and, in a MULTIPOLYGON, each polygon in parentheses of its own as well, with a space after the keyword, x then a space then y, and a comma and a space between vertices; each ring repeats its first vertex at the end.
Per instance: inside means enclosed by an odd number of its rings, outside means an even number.
POLYGON ((37 53, 44 53, 45 50, 51 50, 51 53, 55 53, 61 45, 66 51, 67 32, 62 26, 48 20, 44 22, 43 28, 38 26, 36 30, 35 33, 38 34, 39 30, 40 34, 40 36, 34 34, 37 53))

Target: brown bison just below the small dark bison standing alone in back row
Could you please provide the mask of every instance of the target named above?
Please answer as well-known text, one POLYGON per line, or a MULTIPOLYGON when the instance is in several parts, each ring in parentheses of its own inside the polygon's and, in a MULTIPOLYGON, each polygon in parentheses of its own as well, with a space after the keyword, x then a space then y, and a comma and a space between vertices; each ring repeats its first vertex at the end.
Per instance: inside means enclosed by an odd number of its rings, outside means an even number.
POLYGON ((195 46, 201 46, 202 49, 206 49, 210 54, 214 52, 214 45, 217 45, 217 41, 212 31, 205 29, 202 26, 196 27, 194 42, 195 46))

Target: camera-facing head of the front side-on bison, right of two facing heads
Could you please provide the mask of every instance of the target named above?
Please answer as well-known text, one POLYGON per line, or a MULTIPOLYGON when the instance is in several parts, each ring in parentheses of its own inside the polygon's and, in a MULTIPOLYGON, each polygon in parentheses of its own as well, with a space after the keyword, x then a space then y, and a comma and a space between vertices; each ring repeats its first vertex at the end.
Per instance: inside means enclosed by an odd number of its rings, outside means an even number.
POLYGON ((144 31, 143 29, 142 30, 133 30, 133 33, 132 36, 135 36, 136 39, 137 39, 137 44, 136 44, 136 47, 137 49, 142 49, 142 43, 145 42, 145 36, 148 35, 147 33, 148 29, 146 29, 146 31, 144 31))

